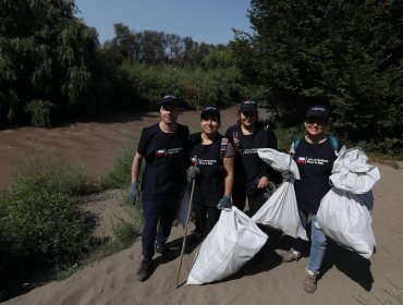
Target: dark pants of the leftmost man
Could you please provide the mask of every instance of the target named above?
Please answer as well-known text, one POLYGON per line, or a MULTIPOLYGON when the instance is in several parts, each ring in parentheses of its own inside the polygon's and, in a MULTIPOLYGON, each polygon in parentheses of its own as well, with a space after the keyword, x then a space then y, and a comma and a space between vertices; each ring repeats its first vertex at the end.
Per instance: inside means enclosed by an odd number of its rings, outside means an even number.
POLYGON ((143 256, 152 258, 154 244, 163 245, 171 233, 178 209, 178 197, 143 198, 144 228, 142 234, 143 256))

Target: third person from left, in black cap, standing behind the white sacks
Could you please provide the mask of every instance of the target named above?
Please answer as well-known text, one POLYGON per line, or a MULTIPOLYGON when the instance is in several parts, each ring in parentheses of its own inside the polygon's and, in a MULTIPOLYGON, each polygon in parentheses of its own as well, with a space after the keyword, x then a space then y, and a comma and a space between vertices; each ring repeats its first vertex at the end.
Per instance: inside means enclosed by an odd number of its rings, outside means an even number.
MULTIPOLYGON (((257 105, 245 100, 239 111, 239 123, 225 132, 235 149, 234 187, 232 200, 234 206, 244 210, 247 198, 249 215, 253 216, 265 204, 265 191, 269 180, 279 174, 257 155, 258 148, 277 149, 274 133, 258 121, 257 105)), ((281 176, 281 175, 280 175, 281 176)))

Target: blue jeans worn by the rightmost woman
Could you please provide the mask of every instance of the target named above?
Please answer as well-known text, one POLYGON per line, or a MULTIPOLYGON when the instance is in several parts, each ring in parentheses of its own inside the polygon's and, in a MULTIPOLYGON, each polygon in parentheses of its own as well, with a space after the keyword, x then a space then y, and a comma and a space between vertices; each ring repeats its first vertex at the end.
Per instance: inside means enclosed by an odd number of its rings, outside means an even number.
MULTIPOLYGON (((308 212, 304 210, 300 210, 301 221, 304 228, 308 222, 308 212)), ((310 253, 309 253, 309 264, 308 270, 313 271, 314 273, 319 273, 320 265, 323 260, 325 253, 326 253, 326 236, 323 232, 315 227, 317 223, 316 213, 310 216, 310 253)), ((303 240, 296 239, 293 241, 292 246, 295 251, 300 252, 303 247, 303 240)))

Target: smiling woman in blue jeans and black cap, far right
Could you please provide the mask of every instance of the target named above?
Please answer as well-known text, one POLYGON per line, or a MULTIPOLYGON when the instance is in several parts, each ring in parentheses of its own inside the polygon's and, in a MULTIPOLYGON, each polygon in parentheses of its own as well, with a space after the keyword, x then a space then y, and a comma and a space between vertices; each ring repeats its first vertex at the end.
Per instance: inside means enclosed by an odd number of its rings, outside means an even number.
MULTIPOLYGON (((298 166, 301 180, 294 182, 301 220, 306 227, 310 215, 310 257, 306 269, 304 290, 314 293, 317 274, 326 253, 326 236, 316 227, 316 213, 320 200, 331 188, 329 176, 338 152, 344 145, 334 136, 325 133, 329 110, 323 105, 310 107, 304 119, 305 135, 295 141, 290 149, 298 166)), ((283 263, 298 260, 303 247, 302 240, 293 240, 292 248, 282 254, 283 263)))

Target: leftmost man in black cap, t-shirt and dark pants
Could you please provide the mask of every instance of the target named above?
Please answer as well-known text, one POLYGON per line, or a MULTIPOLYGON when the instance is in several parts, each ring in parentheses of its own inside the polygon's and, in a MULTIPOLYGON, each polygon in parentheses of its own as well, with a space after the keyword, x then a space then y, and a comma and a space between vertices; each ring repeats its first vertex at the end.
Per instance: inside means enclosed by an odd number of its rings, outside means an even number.
POLYGON ((138 200, 141 188, 144 213, 139 281, 150 276, 155 251, 167 253, 164 244, 186 181, 188 127, 176 122, 179 112, 180 101, 174 96, 164 96, 160 100, 161 121, 143 130, 133 159, 129 200, 132 204, 138 200), (146 167, 139 187, 143 160, 146 167))

